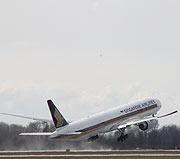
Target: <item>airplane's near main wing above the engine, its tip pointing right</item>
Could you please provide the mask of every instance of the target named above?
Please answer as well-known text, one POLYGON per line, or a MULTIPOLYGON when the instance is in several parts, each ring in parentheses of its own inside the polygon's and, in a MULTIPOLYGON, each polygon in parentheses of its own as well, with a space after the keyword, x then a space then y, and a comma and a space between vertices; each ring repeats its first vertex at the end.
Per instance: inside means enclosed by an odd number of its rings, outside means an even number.
POLYGON ((135 119, 133 121, 130 121, 130 122, 127 122, 127 123, 124 123, 122 125, 119 125, 118 126, 118 129, 124 129, 124 128, 127 128, 131 125, 138 125, 142 122, 145 122, 145 121, 151 121, 151 120, 154 120, 154 119, 158 119, 158 118, 163 118, 163 117, 166 117, 166 116, 169 116, 169 115, 172 115, 172 114, 175 114, 177 113, 178 111, 173 111, 171 113, 168 113, 168 114, 165 114, 165 115, 161 115, 161 116, 154 116, 154 117, 148 117, 148 118, 142 118, 142 119, 135 119))

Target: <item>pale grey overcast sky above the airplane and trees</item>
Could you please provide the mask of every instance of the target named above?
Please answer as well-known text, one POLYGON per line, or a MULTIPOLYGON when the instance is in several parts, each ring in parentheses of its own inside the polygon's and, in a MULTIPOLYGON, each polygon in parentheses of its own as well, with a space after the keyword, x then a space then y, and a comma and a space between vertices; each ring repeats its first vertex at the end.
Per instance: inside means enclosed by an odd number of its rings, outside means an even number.
POLYGON ((2 0, 0 112, 50 119, 51 98, 75 120, 144 97, 180 111, 179 28, 178 0, 2 0))

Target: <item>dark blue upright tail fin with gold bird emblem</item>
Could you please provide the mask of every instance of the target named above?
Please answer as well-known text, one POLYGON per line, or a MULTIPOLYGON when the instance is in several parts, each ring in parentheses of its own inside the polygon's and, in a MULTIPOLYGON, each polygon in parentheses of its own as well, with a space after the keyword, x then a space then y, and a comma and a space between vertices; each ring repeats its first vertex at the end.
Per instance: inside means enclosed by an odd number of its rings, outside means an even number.
POLYGON ((47 101, 49 105, 49 110, 51 112, 51 116, 54 122, 55 128, 59 128, 68 124, 68 122, 64 119, 63 115, 56 108, 52 100, 47 101))

